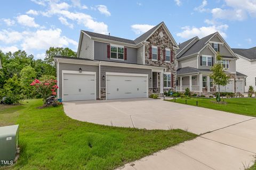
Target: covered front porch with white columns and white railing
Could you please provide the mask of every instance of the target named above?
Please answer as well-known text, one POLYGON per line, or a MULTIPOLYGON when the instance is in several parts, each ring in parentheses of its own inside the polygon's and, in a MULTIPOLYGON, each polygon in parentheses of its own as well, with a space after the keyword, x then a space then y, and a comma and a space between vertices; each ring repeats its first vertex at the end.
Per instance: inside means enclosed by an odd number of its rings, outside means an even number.
POLYGON ((199 94, 216 92, 216 86, 213 85, 210 74, 178 75, 176 90, 184 92, 186 88, 199 94))

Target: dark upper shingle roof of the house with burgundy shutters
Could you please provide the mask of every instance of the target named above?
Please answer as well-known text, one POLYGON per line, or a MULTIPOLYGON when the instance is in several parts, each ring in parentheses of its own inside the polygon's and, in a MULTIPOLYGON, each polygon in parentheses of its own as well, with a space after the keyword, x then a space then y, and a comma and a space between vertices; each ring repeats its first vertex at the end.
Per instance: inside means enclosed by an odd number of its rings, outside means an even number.
POLYGON ((139 36, 138 38, 132 40, 132 39, 125 39, 125 38, 120 38, 120 37, 115 37, 115 36, 110 36, 110 35, 105 35, 105 34, 99 34, 99 33, 93 33, 91 31, 85 31, 85 30, 81 30, 82 33, 86 34, 87 36, 89 36, 90 38, 94 37, 94 38, 101 38, 101 39, 107 39, 110 41, 115 41, 115 42, 121 42, 121 43, 127 43, 127 44, 132 44, 132 45, 137 45, 143 41, 146 41, 153 33, 155 33, 155 31, 159 28, 163 26, 166 29, 166 34, 169 35, 172 43, 174 46, 176 46, 178 48, 177 43, 175 42, 174 38, 172 37, 171 33, 169 32, 169 30, 167 29, 167 27, 165 26, 164 22, 159 23, 157 26, 151 28, 150 30, 148 30, 146 33, 142 34, 141 36, 139 36))

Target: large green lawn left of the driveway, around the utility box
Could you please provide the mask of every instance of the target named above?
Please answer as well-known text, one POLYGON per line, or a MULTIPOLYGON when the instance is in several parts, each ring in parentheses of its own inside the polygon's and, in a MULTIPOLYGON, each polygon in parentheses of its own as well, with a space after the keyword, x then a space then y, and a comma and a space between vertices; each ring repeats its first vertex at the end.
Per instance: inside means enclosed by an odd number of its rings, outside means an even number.
POLYGON ((149 131, 79 122, 67 117, 62 106, 39 106, 41 100, 0 105, 0 125, 20 125, 21 148, 18 163, 0 169, 114 169, 197 136, 181 129, 149 131))

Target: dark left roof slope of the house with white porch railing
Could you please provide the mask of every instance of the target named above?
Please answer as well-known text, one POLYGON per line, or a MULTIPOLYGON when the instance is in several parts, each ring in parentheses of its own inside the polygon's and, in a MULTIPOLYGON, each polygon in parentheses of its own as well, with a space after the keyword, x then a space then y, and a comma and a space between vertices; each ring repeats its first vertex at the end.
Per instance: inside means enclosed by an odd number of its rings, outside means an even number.
POLYGON ((193 46, 191 46, 190 48, 188 48, 188 50, 183 53, 182 55, 180 56, 177 56, 178 59, 180 58, 183 58, 185 56, 188 56, 188 55, 191 55, 191 54, 195 54, 195 53, 198 53, 199 51, 202 50, 202 48, 205 46, 205 43, 207 41, 209 41, 209 39, 214 35, 215 33, 213 34, 210 34, 206 37, 203 37, 201 39, 199 39, 193 46))

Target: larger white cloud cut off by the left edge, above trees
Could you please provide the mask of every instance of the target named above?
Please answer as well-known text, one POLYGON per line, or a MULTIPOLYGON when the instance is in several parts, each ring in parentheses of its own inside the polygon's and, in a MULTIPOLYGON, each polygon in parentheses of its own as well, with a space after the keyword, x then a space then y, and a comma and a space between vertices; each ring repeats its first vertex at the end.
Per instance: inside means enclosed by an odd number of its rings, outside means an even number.
POLYGON ((22 33, 18 31, 2 30, 0 31, 0 41, 5 44, 16 43, 23 38, 22 33))

